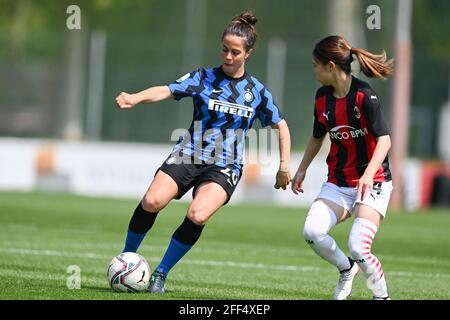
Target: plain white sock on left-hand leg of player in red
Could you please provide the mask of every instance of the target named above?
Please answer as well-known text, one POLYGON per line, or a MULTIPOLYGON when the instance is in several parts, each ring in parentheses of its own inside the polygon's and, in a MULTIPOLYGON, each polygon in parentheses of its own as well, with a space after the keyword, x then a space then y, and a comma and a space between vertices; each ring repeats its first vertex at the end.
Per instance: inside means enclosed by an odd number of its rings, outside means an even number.
POLYGON ((348 257, 338 247, 328 231, 336 224, 333 210, 322 201, 311 205, 303 228, 303 236, 311 248, 323 259, 335 265, 339 271, 351 267, 348 257))

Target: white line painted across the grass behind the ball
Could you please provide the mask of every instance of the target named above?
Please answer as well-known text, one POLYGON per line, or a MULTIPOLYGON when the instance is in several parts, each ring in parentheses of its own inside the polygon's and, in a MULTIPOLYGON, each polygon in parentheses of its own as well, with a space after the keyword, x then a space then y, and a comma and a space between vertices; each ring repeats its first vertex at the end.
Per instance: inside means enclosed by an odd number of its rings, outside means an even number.
MULTIPOLYGON (((0 252, 20 255, 36 255, 36 256, 54 256, 54 257, 68 257, 68 258, 82 258, 82 259, 101 259, 109 260, 111 257, 104 254, 96 253, 74 253, 55 250, 37 250, 27 248, 1 248, 0 252)), ((159 262, 161 259, 156 257, 146 258, 152 262, 159 262)), ((323 269, 313 266, 292 266, 292 265, 272 265, 264 263, 245 263, 235 261, 218 261, 218 260, 193 260, 184 259, 180 263, 193 264, 193 265, 205 265, 205 266, 227 266, 232 268, 245 268, 245 269, 272 269, 283 271, 301 271, 301 272, 319 272, 323 269)), ((421 278, 450 278, 450 273, 430 273, 430 272, 405 272, 405 271, 390 271, 386 272, 389 276, 398 277, 421 277, 421 278)))

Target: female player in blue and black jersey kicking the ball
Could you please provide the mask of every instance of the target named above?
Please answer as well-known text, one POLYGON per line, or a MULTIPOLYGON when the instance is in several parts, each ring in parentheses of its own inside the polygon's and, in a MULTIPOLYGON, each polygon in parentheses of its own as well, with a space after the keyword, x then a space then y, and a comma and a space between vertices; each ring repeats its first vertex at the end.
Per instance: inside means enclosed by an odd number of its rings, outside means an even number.
POLYGON ((275 188, 290 182, 290 134, 272 95, 247 74, 245 62, 257 38, 253 13, 235 17, 222 34, 221 66, 200 68, 167 86, 157 86, 117 98, 121 109, 138 103, 191 97, 194 117, 188 134, 180 138, 158 169, 131 218, 124 252, 136 252, 157 213, 192 187, 193 201, 174 232, 164 257, 152 274, 149 290, 165 292, 169 271, 197 242, 206 222, 229 200, 242 173, 245 133, 259 119, 279 129, 280 166, 275 188))

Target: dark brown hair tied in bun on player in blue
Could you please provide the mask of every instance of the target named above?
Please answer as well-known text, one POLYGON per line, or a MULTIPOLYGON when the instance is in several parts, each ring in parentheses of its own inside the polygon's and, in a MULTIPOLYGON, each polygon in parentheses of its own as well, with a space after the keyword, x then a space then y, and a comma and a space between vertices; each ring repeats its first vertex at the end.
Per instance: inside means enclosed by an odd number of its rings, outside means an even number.
POLYGON ((252 12, 244 12, 233 18, 231 23, 225 28, 222 34, 222 40, 226 35, 231 34, 241 38, 245 38, 245 49, 252 49, 258 38, 255 24, 258 22, 256 16, 252 12))

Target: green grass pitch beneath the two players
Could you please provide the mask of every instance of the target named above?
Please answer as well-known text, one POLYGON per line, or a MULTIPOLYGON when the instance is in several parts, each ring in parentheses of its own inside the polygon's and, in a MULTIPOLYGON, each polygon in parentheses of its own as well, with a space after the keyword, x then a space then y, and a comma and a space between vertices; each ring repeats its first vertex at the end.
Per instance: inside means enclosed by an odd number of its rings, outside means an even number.
MULTIPOLYGON (((106 270, 136 200, 0 193, 0 299, 331 299, 338 273, 301 236, 306 209, 228 205, 174 267, 168 293, 115 293, 106 270), (70 265, 81 288, 68 289, 70 265)), ((139 253, 157 266, 186 203, 162 211, 139 253)), ((351 222, 332 230, 345 252, 351 222)), ((450 212, 388 212, 373 244, 394 300, 450 299, 450 212)), ((365 279, 354 300, 371 299, 365 279)))

